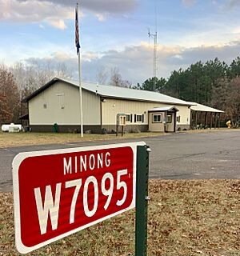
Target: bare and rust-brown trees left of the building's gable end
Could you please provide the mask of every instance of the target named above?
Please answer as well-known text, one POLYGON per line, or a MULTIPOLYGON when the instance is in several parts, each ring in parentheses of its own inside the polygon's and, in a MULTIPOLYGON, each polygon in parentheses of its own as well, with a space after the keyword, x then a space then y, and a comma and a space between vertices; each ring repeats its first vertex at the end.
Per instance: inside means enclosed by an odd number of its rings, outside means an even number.
POLYGON ((19 117, 27 114, 27 105, 22 99, 55 76, 72 78, 72 73, 64 64, 54 66, 52 62, 42 66, 38 62, 25 65, 17 62, 14 66, 0 65, 0 125, 19 122, 19 117))

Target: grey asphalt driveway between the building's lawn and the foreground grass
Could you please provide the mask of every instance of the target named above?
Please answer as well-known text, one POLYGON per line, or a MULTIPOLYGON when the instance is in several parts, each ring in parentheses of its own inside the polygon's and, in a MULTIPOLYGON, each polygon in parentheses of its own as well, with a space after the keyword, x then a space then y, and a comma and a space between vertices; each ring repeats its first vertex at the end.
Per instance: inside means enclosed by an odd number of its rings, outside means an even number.
POLYGON ((176 133, 121 141, 64 143, 0 149, 0 191, 12 190, 11 162, 24 151, 145 141, 150 153, 150 178, 240 178, 240 130, 198 134, 176 133))

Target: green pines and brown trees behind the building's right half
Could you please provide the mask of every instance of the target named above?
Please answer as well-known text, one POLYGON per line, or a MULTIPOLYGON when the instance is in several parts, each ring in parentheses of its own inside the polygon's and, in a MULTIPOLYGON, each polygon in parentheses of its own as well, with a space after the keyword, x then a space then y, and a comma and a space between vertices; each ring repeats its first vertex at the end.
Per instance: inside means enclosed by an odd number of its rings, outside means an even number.
POLYGON ((231 119, 234 126, 240 125, 240 57, 230 65, 218 58, 205 63, 199 61, 185 70, 174 70, 168 79, 149 78, 134 88, 155 90, 223 110, 223 118, 231 119))

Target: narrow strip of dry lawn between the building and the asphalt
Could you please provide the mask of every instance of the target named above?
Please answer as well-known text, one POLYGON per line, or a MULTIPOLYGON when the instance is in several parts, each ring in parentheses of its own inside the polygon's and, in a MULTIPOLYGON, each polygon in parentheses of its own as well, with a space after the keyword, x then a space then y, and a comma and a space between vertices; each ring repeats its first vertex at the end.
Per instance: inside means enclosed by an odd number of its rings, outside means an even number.
POLYGON ((121 139, 121 138, 142 138, 150 136, 166 135, 162 132, 145 132, 137 134, 55 134, 55 133, 6 133, 0 131, 0 148, 11 146, 26 146, 40 144, 55 144, 66 142, 84 142, 95 140, 121 139))

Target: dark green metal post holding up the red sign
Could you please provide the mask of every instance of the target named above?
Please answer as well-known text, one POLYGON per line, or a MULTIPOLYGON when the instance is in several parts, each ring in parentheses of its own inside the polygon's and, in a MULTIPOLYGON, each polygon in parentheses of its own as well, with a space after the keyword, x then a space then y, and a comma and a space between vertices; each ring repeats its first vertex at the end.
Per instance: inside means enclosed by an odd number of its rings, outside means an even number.
POLYGON ((147 205, 150 199, 148 196, 149 153, 149 146, 138 146, 135 216, 135 256, 146 256, 147 205))

